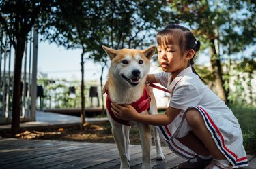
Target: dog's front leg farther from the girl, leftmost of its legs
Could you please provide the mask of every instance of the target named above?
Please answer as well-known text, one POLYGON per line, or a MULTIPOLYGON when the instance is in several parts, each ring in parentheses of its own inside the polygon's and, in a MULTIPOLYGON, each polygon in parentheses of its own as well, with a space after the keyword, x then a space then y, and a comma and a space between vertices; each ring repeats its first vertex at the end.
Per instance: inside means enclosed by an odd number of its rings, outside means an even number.
POLYGON ((126 140, 128 131, 126 130, 129 130, 129 127, 119 124, 117 122, 113 122, 111 126, 112 134, 115 139, 115 143, 117 145, 117 149, 119 151, 119 156, 121 159, 120 169, 128 169, 130 168, 130 157, 128 152, 129 145, 127 145, 129 140, 126 140))

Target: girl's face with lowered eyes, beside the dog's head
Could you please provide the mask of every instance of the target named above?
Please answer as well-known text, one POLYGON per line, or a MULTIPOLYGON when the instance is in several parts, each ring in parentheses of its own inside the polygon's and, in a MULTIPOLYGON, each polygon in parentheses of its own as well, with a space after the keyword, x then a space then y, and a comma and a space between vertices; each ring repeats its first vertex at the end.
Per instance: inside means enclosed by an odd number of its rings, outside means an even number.
POLYGON ((178 74, 188 66, 186 52, 182 55, 179 45, 158 46, 158 62, 165 72, 178 74))

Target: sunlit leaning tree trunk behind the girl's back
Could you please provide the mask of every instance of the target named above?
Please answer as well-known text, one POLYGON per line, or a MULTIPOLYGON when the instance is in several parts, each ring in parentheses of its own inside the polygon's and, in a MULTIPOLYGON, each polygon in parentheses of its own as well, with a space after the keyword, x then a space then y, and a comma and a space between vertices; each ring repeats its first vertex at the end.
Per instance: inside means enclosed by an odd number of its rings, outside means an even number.
POLYGON ((223 73, 221 71, 221 60, 219 54, 216 52, 214 45, 214 39, 210 40, 210 62, 212 65, 212 71, 215 77, 216 89, 218 96, 225 102, 227 102, 227 92, 224 88, 223 73))

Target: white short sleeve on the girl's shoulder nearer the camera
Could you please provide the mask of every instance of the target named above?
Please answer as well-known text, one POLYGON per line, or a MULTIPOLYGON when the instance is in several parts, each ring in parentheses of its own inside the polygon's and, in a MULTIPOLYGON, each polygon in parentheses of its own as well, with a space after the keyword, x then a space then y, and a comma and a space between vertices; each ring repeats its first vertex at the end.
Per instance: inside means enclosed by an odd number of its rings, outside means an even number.
POLYGON ((169 103, 170 107, 185 110, 191 106, 197 106, 201 100, 197 89, 191 85, 177 86, 169 103))

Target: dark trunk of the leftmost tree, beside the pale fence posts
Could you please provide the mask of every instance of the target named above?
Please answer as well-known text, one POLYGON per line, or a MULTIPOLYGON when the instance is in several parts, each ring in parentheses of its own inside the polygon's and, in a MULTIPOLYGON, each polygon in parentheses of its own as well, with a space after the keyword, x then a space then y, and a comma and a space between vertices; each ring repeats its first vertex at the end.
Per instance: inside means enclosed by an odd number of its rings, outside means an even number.
POLYGON ((12 96, 12 135, 20 130, 20 89, 21 89, 21 67, 23 52, 25 50, 25 38, 19 37, 16 43, 14 60, 14 81, 12 96))

